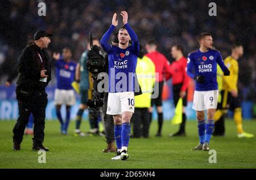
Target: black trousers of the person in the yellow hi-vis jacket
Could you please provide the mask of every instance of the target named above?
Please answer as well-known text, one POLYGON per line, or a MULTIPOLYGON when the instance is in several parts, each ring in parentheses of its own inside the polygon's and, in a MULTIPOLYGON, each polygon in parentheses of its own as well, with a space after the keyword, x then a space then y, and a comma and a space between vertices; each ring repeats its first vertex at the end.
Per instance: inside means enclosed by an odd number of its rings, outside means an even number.
POLYGON ((150 128, 150 113, 148 108, 135 108, 133 117, 131 117, 131 122, 133 122, 133 135, 136 138, 148 137, 148 132, 150 128))

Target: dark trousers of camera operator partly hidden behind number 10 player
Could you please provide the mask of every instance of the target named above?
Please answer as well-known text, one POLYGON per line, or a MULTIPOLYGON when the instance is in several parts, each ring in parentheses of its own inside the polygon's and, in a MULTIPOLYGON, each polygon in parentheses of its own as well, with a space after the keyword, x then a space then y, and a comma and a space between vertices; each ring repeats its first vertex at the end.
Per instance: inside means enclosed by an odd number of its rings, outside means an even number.
POLYGON ((104 92, 103 97, 103 115, 104 115, 104 126, 105 126, 105 132, 106 132, 106 142, 108 144, 114 142, 115 135, 114 135, 114 119, 113 115, 106 114, 106 110, 108 108, 108 92, 104 92))

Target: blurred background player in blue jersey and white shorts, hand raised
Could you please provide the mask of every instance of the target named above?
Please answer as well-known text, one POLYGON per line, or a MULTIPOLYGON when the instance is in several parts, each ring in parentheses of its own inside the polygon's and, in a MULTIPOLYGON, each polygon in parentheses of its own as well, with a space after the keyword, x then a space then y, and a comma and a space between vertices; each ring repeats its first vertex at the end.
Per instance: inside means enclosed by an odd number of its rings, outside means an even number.
POLYGON ((66 135, 70 121, 71 106, 76 103, 75 92, 72 82, 75 80, 76 63, 73 62, 71 49, 65 47, 62 55, 53 53, 55 61, 55 73, 57 79, 57 88, 54 93, 57 118, 61 125, 61 134, 66 135), (65 122, 61 116, 61 105, 66 105, 65 122))

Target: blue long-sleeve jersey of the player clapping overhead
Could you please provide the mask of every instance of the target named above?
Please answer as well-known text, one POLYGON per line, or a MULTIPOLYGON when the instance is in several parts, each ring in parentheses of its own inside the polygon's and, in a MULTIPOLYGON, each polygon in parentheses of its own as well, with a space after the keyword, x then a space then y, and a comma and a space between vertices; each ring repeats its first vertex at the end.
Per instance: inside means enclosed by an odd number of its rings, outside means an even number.
POLYGON ((108 53, 109 57, 109 92, 134 92, 135 78, 131 75, 135 73, 137 66, 139 54, 138 37, 127 23, 125 28, 133 41, 132 45, 126 49, 109 45, 108 40, 114 28, 115 26, 111 25, 100 41, 102 48, 108 53), (123 75, 126 75, 126 79, 124 79, 123 75), (122 91, 120 91, 121 89, 122 91))

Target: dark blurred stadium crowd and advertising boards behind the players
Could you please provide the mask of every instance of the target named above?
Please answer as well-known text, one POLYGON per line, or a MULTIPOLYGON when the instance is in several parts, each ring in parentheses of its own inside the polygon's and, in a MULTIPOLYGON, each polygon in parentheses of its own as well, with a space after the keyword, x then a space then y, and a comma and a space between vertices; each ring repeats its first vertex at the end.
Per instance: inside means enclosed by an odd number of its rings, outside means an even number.
MULTIPOLYGON (((208 4, 212 1, 1 1, 0 2, 0 119, 16 119, 18 105, 15 100, 15 82, 4 87, 7 77, 13 73, 18 56, 38 29, 54 34, 49 53, 60 52, 65 45, 74 49, 73 59, 78 61, 88 43, 89 31, 101 38, 111 23, 113 12, 127 10, 129 23, 137 33, 141 44, 154 38, 159 51, 169 59, 172 44, 184 46, 187 55, 198 48, 196 36, 203 31, 212 33, 214 46, 225 58, 233 42, 242 42, 245 54, 240 59, 239 92, 242 97, 243 117, 256 116, 256 12, 253 1, 214 1, 217 16, 208 16, 208 4), (46 16, 38 16, 38 3, 45 2, 46 16), (114 8, 118 7, 118 8, 114 8), (254 20, 253 20, 254 19, 254 20)), ((122 22, 121 18, 118 19, 122 22)), ((121 24, 121 23, 119 23, 121 24)), ((56 80, 47 88, 49 104, 47 119, 55 119, 53 91, 56 80)), ((187 114, 195 119, 191 109, 194 83, 189 85, 187 114)), ((167 82, 163 93, 164 119, 174 113, 171 82, 167 82), (170 110, 173 109, 173 110, 170 110)), ((72 118, 79 101, 72 109, 72 118)), ((64 113, 64 112, 63 112, 64 113)), ((65 114, 65 113, 64 113, 65 114)), ((86 118, 87 114, 85 114, 86 118)))

